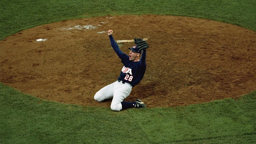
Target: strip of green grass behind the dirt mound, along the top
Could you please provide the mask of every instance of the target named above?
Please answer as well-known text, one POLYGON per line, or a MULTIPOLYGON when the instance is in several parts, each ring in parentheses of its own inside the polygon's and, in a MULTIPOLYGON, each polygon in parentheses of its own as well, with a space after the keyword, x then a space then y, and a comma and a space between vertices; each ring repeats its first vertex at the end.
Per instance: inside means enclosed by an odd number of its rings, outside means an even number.
POLYGON ((0 40, 34 26, 108 15, 173 15, 205 18, 256 31, 254 0, 1 0, 0 40))

